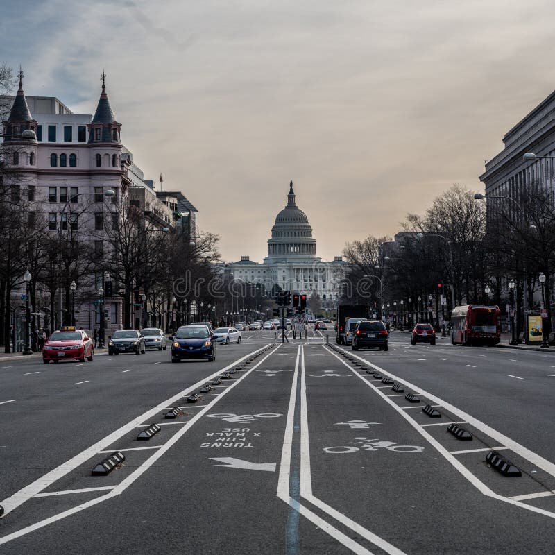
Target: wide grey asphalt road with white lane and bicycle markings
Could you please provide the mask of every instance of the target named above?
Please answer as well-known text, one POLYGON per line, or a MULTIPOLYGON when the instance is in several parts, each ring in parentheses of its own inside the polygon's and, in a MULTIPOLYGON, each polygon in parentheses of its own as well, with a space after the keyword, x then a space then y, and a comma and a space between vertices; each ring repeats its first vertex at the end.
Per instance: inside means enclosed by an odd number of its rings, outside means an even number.
POLYGON ((1 364, 0 552, 555 552, 555 353, 332 339, 245 332, 213 363, 1 364), (91 476, 115 450, 125 461, 91 476))

